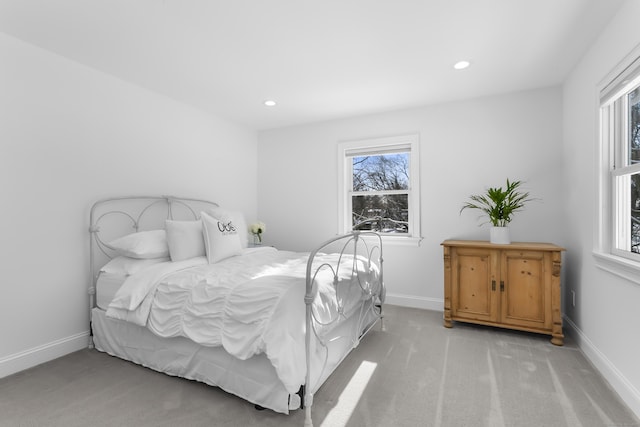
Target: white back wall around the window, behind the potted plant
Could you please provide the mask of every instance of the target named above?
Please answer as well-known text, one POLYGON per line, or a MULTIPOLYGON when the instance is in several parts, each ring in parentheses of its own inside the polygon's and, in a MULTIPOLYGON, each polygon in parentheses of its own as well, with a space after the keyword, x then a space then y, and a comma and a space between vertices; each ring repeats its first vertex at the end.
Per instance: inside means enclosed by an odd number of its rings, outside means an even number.
POLYGON ((516 216, 512 239, 564 243, 561 95, 555 87, 261 132, 258 213, 267 224, 265 240, 309 250, 337 233, 339 141, 418 133, 424 240, 420 247, 385 247, 385 282, 392 303, 442 310, 440 243, 488 238, 477 214, 458 214, 470 194, 507 177, 525 180, 540 200, 516 216))

